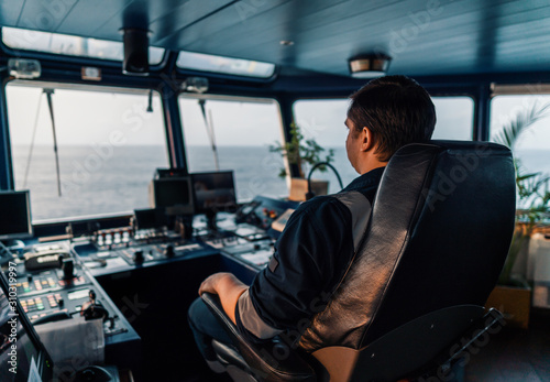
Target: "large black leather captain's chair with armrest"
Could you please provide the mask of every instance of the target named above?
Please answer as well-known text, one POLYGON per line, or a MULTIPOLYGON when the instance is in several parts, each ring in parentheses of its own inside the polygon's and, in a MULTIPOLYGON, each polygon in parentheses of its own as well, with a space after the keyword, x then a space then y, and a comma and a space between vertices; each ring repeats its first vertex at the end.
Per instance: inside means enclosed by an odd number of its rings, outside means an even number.
POLYGON ((215 342, 220 361, 251 381, 448 378, 472 343, 485 343, 502 325, 502 315, 483 306, 506 259, 515 201, 504 146, 402 148, 384 172, 352 266, 297 348, 278 338, 246 341, 217 296, 202 295, 233 340, 215 342))

